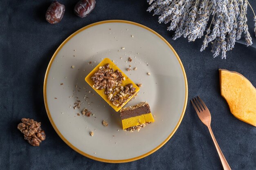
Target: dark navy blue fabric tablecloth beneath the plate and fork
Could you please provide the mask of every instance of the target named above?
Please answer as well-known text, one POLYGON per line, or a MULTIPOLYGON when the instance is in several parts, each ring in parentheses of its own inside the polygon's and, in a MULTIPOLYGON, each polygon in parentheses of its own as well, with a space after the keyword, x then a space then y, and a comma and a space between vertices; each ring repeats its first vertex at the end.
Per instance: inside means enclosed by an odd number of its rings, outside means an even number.
MULTIPOLYGON (((63 20, 45 21, 51 0, 0 1, 0 169, 10 170, 220 170, 218 154, 207 127, 188 102, 177 132, 152 155, 130 163, 101 163, 67 146, 52 128, 43 102, 47 65, 57 47, 74 31, 88 24, 111 19, 130 20, 157 31, 177 51, 189 85, 189 99, 200 95, 212 115, 212 129, 232 170, 256 170, 256 128, 231 115, 220 96, 218 68, 237 71, 256 86, 256 49, 236 43, 227 60, 213 58, 210 49, 200 53, 202 40, 172 40, 167 25, 146 12, 146 0, 97 0, 86 18, 73 13, 76 1, 65 4, 63 20), (22 117, 42 122, 47 139, 32 147, 17 129, 22 117)), ((256 10, 254 0, 253 8, 256 10)), ((248 7, 249 8, 249 7, 248 7)), ((253 33, 252 12, 248 24, 253 33)), ((255 35, 253 41, 256 42, 255 35)), ((256 43, 254 43, 255 46, 256 43)), ((161 57, 161 56, 156 56, 161 57)), ((163 129, 164 130, 164 129, 163 129)))

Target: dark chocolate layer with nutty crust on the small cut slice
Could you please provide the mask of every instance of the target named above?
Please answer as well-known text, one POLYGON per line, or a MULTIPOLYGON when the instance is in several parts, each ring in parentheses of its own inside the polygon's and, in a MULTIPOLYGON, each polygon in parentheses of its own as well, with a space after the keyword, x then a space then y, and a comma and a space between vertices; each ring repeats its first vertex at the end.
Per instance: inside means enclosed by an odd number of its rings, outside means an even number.
POLYGON ((150 107, 146 102, 144 102, 132 107, 123 108, 120 110, 120 113, 121 113, 120 114, 121 119, 123 120, 130 117, 135 117, 135 116, 140 116, 140 115, 150 113, 150 107))

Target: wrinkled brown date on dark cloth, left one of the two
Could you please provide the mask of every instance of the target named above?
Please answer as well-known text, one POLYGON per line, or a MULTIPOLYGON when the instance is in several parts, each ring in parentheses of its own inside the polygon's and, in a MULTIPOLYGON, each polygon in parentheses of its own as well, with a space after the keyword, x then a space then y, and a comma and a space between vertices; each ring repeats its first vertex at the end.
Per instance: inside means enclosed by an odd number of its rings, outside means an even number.
POLYGON ((61 21, 65 13, 65 5, 54 1, 46 11, 45 19, 50 24, 57 24, 61 21))

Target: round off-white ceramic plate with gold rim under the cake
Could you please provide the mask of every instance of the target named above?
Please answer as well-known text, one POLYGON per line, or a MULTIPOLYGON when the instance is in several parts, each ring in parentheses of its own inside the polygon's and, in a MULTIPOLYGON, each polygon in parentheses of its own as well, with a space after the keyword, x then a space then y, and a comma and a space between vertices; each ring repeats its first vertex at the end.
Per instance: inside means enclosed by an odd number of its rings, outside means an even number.
POLYGON ((70 35, 54 53, 44 82, 45 107, 58 135, 80 154, 110 163, 141 159, 163 146, 182 121, 187 95, 186 74, 171 45, 146 26, 123 20, 97 22, 70 35), (122 130, 119 113, 84 80, 105 57, 133 82, 142 83, 127 106, 147 101, 155 122, 139 132, 122 130), (129 65, 132 70, 126 71, 129 65), (94 116, 76 115, 76 100, 94 116))

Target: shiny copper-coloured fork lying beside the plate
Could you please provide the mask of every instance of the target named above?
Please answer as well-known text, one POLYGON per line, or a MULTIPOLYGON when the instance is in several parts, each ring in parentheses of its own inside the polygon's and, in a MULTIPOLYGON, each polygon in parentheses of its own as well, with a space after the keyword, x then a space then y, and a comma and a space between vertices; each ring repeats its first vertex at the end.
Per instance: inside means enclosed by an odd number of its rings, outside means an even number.
POLYGON ((195 111, 198 114, 199 119, 203 122, 203 124, 205 124, 207 126, 207 128, 210 131, 211 138, 213 139, 214 145, 219 154, 223 169, 231 170, 231 168, 229 167, 227 160, 225 159, 223 153, 221 152, 220 147, 219 147, 219 145, 213 135, 213 132, 211 130, 211 113, 210 113, 210 111, 208 110, 207 106, 204 104, 204 102, 202 101, 202 99, 199 96, 193 98, 193 100, 191 100, 191 103, 193 104, 195 111))

